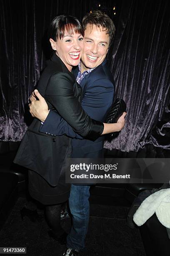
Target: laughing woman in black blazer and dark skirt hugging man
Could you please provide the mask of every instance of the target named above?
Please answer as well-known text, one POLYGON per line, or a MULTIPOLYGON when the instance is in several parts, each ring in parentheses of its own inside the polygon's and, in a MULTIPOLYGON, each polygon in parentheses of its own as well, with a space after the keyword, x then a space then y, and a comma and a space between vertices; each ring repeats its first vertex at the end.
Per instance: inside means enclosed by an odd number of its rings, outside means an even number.
MULTIPOLYGON (((50 43, 55 53, 40 77, 38 90, 45 97, 49 109, 57 110, 81 136, 95 139, 102 134, 119 131, 122 126, 92 120, 81 108, 81 90, 71 70, 80 62, 83 34, 80 22, 72 16, 60 15, 52 21, 50 43)), ((15 163, 30 169, 30 195, 46 205, 48 225, 59 236, 63 233, 60 206, 70 193, 70 184, 65 184, 64 167, 66 157, 72 153, 71 140, 64 135, 44 135, 39 132, 40 125, 40 121, 35 119, 28 128, 15 163)))

